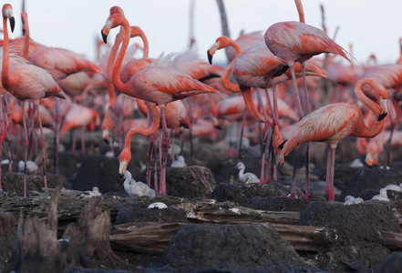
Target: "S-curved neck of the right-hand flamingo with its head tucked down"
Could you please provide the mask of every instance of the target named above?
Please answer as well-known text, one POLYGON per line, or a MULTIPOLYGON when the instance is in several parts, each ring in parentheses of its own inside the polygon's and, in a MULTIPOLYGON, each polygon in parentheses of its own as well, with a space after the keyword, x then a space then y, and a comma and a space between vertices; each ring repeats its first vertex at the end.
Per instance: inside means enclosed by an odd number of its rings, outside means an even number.
MULTIPOLYGON (((356 83, 355 92, 357 98, 366 105, 374 114, 375 116, 379 116, 381 114, 381 106, 376 105, 376 103, 371 100, 368 96, 366 96, 362 91, 362 86, 369 85, 371 86, 375 92, 379 92, 381 85, 378 84, 376 81, 365 78, 356 83)), ((384 87, 383 87, 384 88, 384 87)), ((385 97, 387 98, 387 97, 385 97)), ((362 118, 361 123, 358 124, 359 130, 353 136, 360 136, 360 137, 374 137, 378 135, 383 127, 384 127, 385 118, 381 121, 375 121, 372 126, 366 126, 364 119, 362 118)))

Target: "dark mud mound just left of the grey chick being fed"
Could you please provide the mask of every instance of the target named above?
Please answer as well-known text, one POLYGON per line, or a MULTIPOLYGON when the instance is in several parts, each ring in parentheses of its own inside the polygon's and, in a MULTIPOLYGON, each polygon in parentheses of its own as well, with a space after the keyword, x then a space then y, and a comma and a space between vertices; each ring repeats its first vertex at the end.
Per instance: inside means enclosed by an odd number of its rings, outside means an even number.
MULTIPOLYGON (((139 162, 131 158, 127 168, 132 177, 140 176, 139 162)), ((123 180, 119 176, 119 158, 104 156, 83 157, 77 176, 73 179, 71 187, 77 190, 90 190, 98 187, 102 193, 108 191, 124 190, 123 180)))

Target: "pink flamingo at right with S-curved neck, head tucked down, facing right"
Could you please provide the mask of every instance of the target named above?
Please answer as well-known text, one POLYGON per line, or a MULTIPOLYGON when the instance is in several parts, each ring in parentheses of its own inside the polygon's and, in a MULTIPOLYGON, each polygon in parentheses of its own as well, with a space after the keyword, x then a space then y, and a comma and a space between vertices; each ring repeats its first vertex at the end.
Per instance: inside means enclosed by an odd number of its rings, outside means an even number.
MULTIPOLYGON (((365 78, 356 83, 355 92, 358 99, 375 114, 378 121, 373 126, 366 126, 364 115, 358 106, 351 103, 331 104, 304 116, 291 135, 279 147, 281 152, 277 161, 283 164, 284 156, 298 145, 310 141, 327 143, 325 194, 330 202, 335 200, 334 168, 337 144, 345 136, 374 137, 378 135, 383 129, 384 118, 387 116, 388 95, 384 86, 372 79, 365 78), (369 85, 374 89, 374 97, 365 95, 362 91, 364 85, 369 85)), ((294 188, 292 191, 294 192, 294 188)))

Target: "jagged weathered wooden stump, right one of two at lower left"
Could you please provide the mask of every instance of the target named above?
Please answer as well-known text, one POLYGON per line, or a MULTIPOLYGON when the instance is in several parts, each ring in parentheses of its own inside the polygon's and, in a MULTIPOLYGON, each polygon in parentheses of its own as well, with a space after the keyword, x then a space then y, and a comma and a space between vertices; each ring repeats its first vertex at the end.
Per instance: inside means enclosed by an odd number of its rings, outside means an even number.
POLYGON ((129 269, 128 264, 117 257, 109 244, 111 230, 108 211, 101 208, 101 197, 92 197, 82 211, 77 223, 70 224, 63 238, 69 241, 67 265, 83 268, 129 269))

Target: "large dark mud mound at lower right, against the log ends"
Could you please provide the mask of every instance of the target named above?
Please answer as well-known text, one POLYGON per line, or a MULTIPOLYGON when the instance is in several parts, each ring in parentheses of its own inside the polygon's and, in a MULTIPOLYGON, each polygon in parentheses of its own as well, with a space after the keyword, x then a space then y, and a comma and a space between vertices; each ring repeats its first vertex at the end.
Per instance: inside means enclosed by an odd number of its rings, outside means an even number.
POLYGON ((373 271, 389 253, 373 238, 380 231, 401 232, 392 207, 379 202, 355 206, 311 202, 302 212, 299 225, 329 227, 332 243, 317 255, 318 267, 328 271, 373 271))

